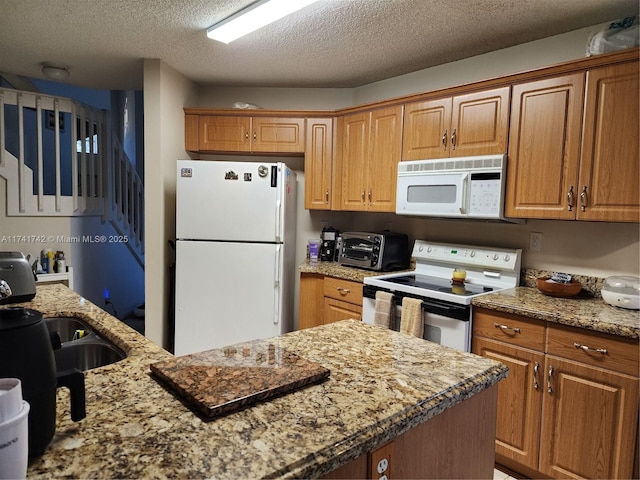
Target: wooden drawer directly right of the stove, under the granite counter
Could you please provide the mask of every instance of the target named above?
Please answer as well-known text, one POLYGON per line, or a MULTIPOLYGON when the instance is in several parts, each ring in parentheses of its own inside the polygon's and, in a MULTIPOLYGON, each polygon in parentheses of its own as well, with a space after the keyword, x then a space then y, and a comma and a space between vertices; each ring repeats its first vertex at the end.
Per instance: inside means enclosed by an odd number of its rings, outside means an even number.
POLYGON ((477 308, 473 310, 473 335, 511 345, 544 351, 545 323, 509 313, 477 308))

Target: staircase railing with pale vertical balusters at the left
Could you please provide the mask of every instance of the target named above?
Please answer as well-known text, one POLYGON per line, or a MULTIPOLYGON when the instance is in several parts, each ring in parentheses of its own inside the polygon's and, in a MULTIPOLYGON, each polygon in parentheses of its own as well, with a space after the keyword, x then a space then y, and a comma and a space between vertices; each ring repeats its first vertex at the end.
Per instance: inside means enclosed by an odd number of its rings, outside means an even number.
POLYGON ((128 248, 144 266, 144 187, 109 125, 106 110, 0 88, 6 215, 99 216, 127 237, 128 248))

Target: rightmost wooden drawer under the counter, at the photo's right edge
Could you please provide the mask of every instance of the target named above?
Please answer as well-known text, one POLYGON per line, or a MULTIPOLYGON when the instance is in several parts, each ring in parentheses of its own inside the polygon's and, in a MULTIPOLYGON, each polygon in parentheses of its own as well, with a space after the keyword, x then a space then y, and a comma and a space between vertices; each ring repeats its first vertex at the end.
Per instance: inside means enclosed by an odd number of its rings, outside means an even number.
POLYGON ((638 376, 637 340, 563 325, 549 325, 547 353, 638 376))

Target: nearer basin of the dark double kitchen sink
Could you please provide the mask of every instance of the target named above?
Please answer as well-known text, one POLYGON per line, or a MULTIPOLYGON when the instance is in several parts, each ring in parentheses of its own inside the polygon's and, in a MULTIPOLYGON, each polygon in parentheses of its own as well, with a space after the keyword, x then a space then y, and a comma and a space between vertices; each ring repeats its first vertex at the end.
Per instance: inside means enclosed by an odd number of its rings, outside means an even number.
MULTIPOLYGON (((98 337, 99 338, 99 337, 98 337)), ((99 341, 77 341, 68 343, 54 351, 58 371, 77 368, 91 370, 126 358, 125 353, 115 345, 100 339, 99 341)))

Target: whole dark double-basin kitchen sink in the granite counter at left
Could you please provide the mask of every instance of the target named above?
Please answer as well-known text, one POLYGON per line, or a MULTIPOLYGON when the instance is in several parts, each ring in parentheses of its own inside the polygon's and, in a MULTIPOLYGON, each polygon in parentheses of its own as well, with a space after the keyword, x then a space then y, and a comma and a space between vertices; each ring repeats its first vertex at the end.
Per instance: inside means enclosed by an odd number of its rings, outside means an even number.
POLYGON ((127 355, 97 335, 87 323, 75 317, 44 319, 49 332, 58 332, 62 346, 54 350, 56 370, 91 370, 123 360, 127 355))

